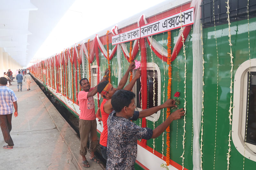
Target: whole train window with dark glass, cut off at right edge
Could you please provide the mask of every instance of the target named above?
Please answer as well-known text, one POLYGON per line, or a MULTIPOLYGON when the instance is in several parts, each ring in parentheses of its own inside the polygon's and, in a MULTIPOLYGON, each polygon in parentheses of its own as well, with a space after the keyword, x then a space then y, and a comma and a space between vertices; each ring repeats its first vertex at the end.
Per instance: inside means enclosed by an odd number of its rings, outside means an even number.
POLYGON ((256 161, 256 58, 236 70, 233 107, 234 145, 240 154, 256 161))

